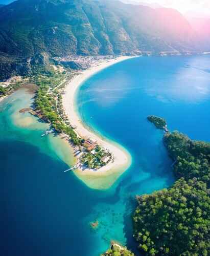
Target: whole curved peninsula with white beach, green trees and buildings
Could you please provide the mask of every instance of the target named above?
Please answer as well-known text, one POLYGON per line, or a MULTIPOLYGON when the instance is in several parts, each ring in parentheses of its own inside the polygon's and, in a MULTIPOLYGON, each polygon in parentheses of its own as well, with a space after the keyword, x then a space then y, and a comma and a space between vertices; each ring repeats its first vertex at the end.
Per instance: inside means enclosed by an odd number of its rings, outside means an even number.
MULTIPOLYGON (((87 186, 94 189, 109 188, 131 164, 130 154, 122 146, 96 134, 81 121, 75 105, 75 95, 81 84, 91 75, 131 56, 66 56, 57 61, 76 63, 76 70, 60 65, 50 65, 49 72, 40 70, 33 76, 18 77, 2 83, 3 96, 11 94, 28 84, 36 86, 33 108, 19 110, 29 112, 51 128, 42 136, 57 132, 73 148, 74 174, 87 186), (12 80, 12 81, 13 81, 12 80), (37 87, 38 86, 38 87, 37 87)), ((65 161, 69 165, 69 161, 65 161)))

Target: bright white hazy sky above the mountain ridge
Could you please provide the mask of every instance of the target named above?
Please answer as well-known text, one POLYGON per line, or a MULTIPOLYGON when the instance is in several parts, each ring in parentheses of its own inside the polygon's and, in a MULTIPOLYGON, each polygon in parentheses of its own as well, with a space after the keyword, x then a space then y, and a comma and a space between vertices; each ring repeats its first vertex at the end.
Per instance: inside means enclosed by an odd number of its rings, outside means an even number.
POLYGON ((135 2, 157 3, 164 7, 175 8, 182 13, 192 12, 210 16, 210 0, 135 0, 135 2))

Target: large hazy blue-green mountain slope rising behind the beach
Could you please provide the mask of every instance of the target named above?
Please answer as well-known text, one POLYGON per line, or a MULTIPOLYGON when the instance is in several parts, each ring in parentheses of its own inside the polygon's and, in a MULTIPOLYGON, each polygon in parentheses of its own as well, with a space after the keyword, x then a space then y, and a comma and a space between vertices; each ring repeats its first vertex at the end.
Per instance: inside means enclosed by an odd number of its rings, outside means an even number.
POLYGON ((194 36, 176 10, 115 0, 18 0, 0 9, 0 61, 5 68, 8 56, 9 63, 12 58, 29 63, 42 53, 55 57, 194 50, 194 36))

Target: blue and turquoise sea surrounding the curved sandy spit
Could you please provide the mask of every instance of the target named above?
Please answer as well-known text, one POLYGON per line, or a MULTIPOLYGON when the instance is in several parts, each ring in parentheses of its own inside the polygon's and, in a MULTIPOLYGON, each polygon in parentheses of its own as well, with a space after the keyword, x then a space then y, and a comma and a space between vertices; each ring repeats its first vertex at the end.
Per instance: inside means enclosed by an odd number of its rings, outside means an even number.
POLYGON ((134 248, 134 196, 174 182, 164 133, 147 116, 166 118, 171 131, 210 140, 208 56, 134 58, 84 82, 77 95, 82 119, 132 156, 131 167, 104 191, 63 174, 67 165, 60 152, 66 152, 65 145, 56 137, 41 137, 47 125, 18 113, 31 97, 20 90, 0 103, 4 256, 98 256, 110 240, 134 248), (89 223, 96 220, 94 231, 89 223))

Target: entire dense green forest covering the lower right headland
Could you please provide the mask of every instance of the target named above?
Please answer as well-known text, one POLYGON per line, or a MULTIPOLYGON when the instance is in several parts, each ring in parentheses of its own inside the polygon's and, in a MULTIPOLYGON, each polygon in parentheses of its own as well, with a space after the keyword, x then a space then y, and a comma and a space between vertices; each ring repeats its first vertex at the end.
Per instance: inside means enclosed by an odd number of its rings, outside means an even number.
POLYGON ((164 143, 178 181, 152 195, 137 196, 134 237, 146 255, 207 256, 210 252, 210 144, 179 133, 164 143))

